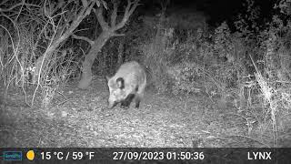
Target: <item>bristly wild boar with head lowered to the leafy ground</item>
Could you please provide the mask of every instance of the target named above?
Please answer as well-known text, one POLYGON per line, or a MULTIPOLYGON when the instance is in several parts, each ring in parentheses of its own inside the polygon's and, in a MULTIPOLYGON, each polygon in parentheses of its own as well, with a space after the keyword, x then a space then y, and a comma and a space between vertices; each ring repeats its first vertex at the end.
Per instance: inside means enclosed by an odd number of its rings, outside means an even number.
POLYGON ((109 87, 108 108, 128 108, 135 100, 135 108, 139 108, 146 87, 146 72, 137 62, 127 62, 119 67, 114 77, 106 77, 109 87))

